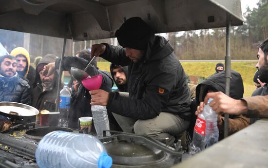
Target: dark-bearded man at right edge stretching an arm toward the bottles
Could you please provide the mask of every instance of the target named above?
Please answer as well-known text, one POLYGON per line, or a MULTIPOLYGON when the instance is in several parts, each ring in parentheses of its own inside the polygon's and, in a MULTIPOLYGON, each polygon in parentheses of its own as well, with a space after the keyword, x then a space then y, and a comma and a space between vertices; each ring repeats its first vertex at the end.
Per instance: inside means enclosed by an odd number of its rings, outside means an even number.
POLYGON ((268 117, 268 39, 259 47, 257 58, 259 59, 256 67, 259 68, 259 79, 266 84, 254 91, 253 97, 235 100, 222 92, 208 93, 204 102, 200 102, 196 114, 203 111, 209 98, 213 98, 210 103, 212 109, 218 113, 228 113, 233 115, 244 114, 247 117, 268 117))

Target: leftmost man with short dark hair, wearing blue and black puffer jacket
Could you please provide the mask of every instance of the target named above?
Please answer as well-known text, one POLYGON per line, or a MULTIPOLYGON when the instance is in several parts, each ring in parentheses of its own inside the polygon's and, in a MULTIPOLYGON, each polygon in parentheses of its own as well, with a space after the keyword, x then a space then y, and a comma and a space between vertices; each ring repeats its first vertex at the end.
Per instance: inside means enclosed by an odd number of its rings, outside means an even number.
POLYGON ((31 90, 28 80, 18 75, 17 61, 13 56, 0 57, 0 101, 31 105, 31 90))

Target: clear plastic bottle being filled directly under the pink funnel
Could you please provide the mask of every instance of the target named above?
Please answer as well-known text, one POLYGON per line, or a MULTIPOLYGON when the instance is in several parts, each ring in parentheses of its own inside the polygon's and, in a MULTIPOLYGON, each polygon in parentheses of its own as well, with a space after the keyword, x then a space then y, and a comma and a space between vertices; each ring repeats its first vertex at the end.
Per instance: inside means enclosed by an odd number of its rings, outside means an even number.
MULTIPOLYGON (((91 106, 91 111, 97 136, 103 137, 103 130, 110 130, 106 106, 91 106)), ((106 136, 110 135, 110 132, 106 132, 106 136)))

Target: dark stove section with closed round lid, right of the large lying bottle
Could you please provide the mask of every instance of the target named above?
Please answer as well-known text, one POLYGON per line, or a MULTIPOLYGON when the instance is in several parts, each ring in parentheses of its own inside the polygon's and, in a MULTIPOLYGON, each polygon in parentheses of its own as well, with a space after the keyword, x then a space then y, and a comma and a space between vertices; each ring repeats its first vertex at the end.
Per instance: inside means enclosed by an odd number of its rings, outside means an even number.
POLYGON ((183 151, 180 144, 176 149, 151 137, 118 133, 100 139, 113 158, 112 168, 169 168, 179 163, 183 151))

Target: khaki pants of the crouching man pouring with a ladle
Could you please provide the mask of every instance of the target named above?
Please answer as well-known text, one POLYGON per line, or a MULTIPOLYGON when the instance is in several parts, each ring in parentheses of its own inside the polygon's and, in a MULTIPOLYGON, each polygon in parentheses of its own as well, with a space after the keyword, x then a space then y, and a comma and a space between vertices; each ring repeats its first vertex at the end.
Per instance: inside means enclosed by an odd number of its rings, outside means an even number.
MULTIPOLYGON (((128 93, 120 93, 128 97, 128 93)), ((167 134, 179 135, 189 127, 189 121, 185 121, 178 115, 170 112, 160 112, 153 119, 137 120, 113 113, 115 120, 124 132, 150 135, 156 138, 165 138, 167 134)))

